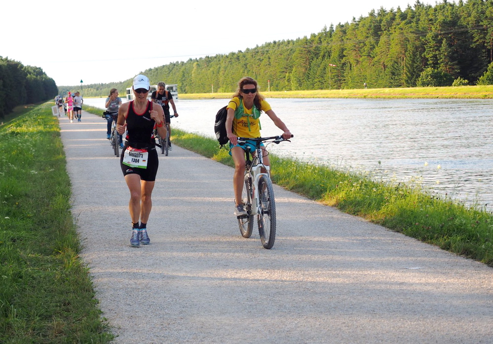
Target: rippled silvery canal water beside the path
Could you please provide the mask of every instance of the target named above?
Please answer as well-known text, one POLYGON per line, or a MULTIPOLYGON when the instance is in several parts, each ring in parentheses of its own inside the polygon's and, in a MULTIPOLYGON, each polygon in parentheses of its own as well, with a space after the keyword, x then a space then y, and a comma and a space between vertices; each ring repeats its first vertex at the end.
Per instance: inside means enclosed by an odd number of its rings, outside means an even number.
MULTIPOLYGON (((493 101, 267 99, 294 134, 278 155, 425 187, 493 210, 493 101)), ((104 107, 104 99, 84 103, 104 107)), ((172 128, 210 137, 228 100, 180 100, 172 128)), ((262 134, 281 134, 261 117, 262 134)))

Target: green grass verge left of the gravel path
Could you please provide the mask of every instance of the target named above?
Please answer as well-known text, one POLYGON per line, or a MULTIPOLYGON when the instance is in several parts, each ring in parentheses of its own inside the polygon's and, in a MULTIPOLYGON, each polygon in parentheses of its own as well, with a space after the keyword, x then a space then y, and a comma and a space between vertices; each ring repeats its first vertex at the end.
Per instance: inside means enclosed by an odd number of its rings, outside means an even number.
POLYGON ((0 127, 0 343, 107 343, 52 105, 0 127))

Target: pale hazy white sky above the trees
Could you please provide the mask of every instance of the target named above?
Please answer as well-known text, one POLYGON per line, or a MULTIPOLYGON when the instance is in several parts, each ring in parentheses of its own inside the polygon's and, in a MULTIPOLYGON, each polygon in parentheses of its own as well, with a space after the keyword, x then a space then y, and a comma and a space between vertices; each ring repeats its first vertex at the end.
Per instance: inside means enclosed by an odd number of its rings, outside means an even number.
MULTIPOLYGON (((421 1, 435 4, 435 1, 421 1)), ((145 69, 318 33, 405 9, 409 0, 36 1, 1 4, 0 56, 42 68, 57 85, 123 81, 145 69), (234 4, 234 5, 233 5, 234 4)), ((163 80, 175 83, 175 80, 163 80)))

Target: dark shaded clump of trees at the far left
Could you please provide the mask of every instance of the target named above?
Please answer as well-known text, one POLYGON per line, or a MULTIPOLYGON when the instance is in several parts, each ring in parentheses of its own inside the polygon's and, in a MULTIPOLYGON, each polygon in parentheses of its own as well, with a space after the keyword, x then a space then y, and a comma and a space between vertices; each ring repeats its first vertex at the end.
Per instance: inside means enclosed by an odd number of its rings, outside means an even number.
POLYGON ((42 69, 0 56, 0 118, 17 105, 46 101, 57 93, 55 81, 42 69))

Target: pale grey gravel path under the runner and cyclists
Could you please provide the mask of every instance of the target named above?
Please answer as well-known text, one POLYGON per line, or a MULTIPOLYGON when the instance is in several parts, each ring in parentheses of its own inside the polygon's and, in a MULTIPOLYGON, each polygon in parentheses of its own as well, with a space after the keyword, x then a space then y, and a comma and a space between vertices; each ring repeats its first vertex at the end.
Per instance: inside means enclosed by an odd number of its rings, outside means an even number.
POLYGON ((132 248, 106 121, 60 127, 114 343, 493 343, 491 268, 275 185, 266 250, 256 225, 239 233, 233 170, 180 147, 159 158, 151 244, 132 248))

